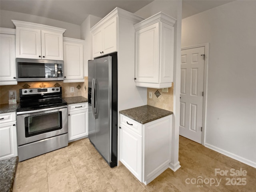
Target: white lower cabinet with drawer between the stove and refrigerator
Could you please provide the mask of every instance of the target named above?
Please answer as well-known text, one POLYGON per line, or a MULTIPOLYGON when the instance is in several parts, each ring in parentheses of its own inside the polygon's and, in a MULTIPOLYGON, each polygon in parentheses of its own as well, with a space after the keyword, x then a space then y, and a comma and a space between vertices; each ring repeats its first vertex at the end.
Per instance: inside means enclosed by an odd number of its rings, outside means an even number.
POLYGON ((88 136, 88 103, 68 105, 68 142, 88 136))

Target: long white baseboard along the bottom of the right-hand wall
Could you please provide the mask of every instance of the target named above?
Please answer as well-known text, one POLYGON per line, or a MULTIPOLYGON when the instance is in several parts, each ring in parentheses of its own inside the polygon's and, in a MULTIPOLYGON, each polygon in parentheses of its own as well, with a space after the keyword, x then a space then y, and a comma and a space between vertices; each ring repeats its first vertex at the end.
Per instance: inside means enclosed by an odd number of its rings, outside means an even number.
POLYGON ((226 151, 226 150, 223 150, 223 149, 221 149, 221 148, 218 148, 218 147, 213 146, 213 145, 208 144, 208 143, 204 143, 204 146, 207 147, 207 148, 209 148, 209 149, 212 149, 212 150, 214 150, 214 151, 216 151, 216 152, 219 152, 219 153, 221 153, 221 154, 223 154, 223 155, 226 155, 226 156, 228 156, 228 157, 230 157, 230 158, 232 158, 232 159, 238 160, 238 161, 240 161, 240 162, 242 162, 242 163, 244 163, 244 164, 247 164, 247 165, 249 165, 249 166, 252 166, 252 167, 256 168, 256 162, 253 162, 253 161, 251 161, 251 160, 248 160, 248 159, 243 158, 243 157, 241 157, 241 156, 238 156, 238 155, 236 155, 236 154, 230 153, 230 152, 228 152, 228 151, 226 151))

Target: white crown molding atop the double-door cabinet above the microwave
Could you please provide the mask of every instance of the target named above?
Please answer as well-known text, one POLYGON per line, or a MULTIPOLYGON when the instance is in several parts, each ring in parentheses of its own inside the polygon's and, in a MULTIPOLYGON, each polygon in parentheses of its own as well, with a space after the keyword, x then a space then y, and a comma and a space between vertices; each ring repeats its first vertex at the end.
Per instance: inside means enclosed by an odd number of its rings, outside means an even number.
POLYGON ((43 24, 37 24, 37 23, 31 23, 31 22, 25 22, 25 21, 17 21, 17 20, 12 20, 12 22, 16 27, 28 27, 28 28, 58 32, 58 33, 62 33, 62 34, 66 31, 66 29, 52 27, 52 26, 43 25, 43 24))

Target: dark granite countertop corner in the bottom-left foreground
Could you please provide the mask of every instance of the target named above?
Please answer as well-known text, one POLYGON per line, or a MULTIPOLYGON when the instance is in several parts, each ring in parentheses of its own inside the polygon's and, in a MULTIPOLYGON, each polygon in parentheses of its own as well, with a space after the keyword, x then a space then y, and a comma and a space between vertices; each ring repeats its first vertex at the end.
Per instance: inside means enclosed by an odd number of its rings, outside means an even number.
POLYGON ((0 191, 12 192, 17 166, 17 156, 0 161, 0 191))

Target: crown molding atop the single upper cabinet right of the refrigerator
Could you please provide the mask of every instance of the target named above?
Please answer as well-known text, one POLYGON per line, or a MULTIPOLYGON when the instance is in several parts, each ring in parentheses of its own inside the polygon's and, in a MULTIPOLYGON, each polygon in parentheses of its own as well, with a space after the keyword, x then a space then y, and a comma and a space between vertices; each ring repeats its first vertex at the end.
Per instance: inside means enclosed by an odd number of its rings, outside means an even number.
POLYGON ((174 26, 176 19, 168 16, 167 14, 163 13, 163 12, 159 12, 137 24, 134 25, 135 30, 140 30, 141 28, 144 28, 146 26, 152 25, 154 23, 157 22, 163 22, 166 23, 168 25, 174 26))

